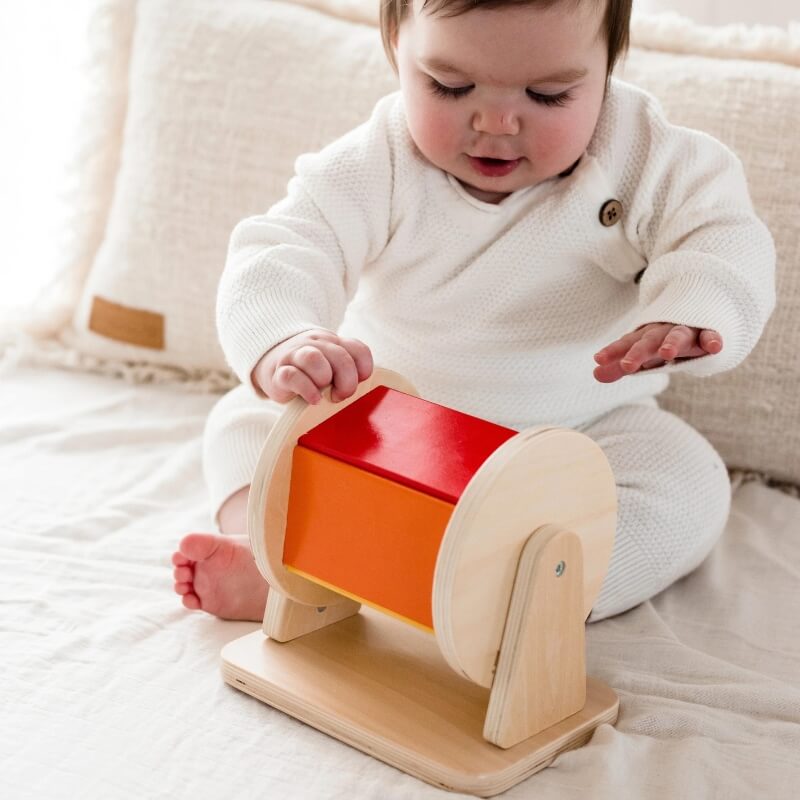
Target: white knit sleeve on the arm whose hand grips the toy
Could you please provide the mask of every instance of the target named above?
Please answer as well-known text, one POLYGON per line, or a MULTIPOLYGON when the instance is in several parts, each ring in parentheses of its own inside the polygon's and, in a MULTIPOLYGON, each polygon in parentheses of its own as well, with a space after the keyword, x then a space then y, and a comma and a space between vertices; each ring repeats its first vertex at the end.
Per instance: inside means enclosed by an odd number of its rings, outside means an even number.
POLYGON ((287 195, 233 230, 217 292, 217 331, 243 382, 276 344, 335 331, 363 267, 383 249, 391 213, 390 99, 318 153, 300 156, 287 195))

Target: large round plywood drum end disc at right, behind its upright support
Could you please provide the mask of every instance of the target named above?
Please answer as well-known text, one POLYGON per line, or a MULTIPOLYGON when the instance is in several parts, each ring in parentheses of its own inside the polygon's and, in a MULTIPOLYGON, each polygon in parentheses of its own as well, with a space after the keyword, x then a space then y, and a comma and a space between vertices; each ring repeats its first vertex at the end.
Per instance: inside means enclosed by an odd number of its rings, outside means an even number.
POLYGON ((616 517, 611 467, 588 436, 529 428, 495 450, 459 498, 436 561, 433 627, 450 666, 491 687, 519 556, 544 525, 581 540, 585 619, 608 570, 616 517))

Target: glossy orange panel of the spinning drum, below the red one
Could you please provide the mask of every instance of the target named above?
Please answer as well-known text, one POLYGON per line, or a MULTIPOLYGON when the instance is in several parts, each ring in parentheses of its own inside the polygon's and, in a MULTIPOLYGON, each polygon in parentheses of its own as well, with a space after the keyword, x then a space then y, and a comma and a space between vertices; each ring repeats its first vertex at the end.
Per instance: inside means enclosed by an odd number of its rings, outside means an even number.
POLYGON ((298 445, 283 563, 309 580, 432 630, 433 572, 453 508, 298 445))

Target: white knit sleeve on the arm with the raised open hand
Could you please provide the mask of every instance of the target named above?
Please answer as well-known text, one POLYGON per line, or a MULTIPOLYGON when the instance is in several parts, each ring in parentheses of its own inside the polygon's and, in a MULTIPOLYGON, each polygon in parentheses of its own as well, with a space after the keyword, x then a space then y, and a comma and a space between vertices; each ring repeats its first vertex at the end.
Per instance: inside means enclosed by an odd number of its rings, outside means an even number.
MULTIPOLYGON (((645 96, 646 97, 646 96, 645 96)), ((630 330, 671 322, 718 331, 723 349, 658 369, 698 376, 737 366, 775 306, 775 248, 739 159, 716 139, 670 125, 634 98, 627 156, 629 240, 647 267, 630 330)))

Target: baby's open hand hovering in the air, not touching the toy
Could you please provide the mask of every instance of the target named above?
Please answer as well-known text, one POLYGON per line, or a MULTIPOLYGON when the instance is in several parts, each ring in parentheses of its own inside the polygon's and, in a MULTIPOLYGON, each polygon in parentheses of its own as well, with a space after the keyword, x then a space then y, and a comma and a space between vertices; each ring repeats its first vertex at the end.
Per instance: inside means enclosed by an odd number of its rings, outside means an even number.
POLYGON ((722 350, 722 337, 705 328, 689 328, 671 322, 651 322, 628 333, 595 353, 594 377, 613 383, 640 369, 660 367, 678 358, 694 358, 722 350))

